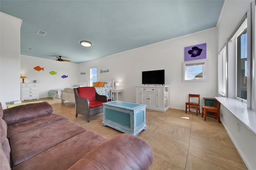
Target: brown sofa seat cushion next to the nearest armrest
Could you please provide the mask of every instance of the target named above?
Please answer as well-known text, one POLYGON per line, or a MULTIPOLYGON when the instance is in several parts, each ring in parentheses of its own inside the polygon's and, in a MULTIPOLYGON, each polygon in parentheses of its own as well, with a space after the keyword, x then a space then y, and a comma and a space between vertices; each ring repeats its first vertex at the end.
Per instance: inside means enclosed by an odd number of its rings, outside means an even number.
MULTIPOLYGON (((106 141, 106 137, 88 130, 18 164, 14 170, 67 170, 90 150, 106 141)), ((86 166, 81 168, 87 169, 86 166)))

